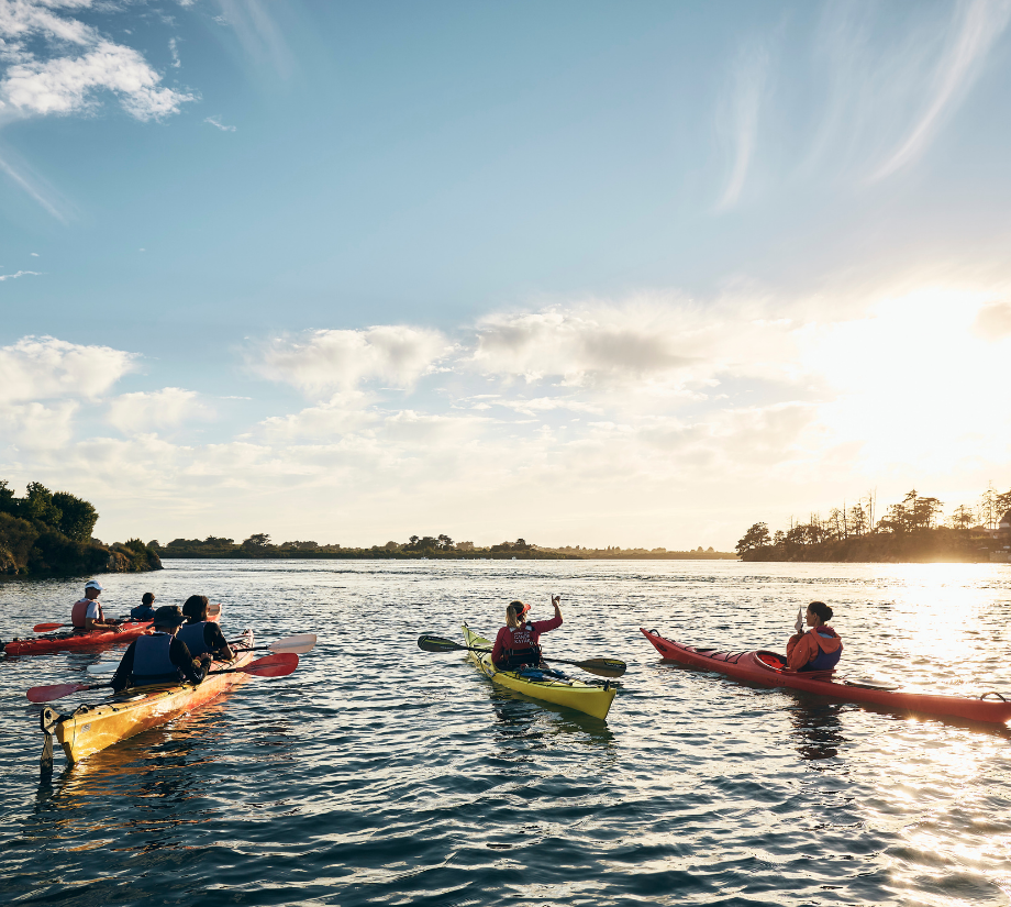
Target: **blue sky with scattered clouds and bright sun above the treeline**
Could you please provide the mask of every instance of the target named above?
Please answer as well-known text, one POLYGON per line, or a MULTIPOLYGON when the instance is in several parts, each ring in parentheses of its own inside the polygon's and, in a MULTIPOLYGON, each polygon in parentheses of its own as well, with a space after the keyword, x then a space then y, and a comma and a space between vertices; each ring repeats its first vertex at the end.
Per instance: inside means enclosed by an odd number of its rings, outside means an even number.
POLYGON ((1008 490, 1009 22, 0 0, 0 478, 670 550, 1008 490))

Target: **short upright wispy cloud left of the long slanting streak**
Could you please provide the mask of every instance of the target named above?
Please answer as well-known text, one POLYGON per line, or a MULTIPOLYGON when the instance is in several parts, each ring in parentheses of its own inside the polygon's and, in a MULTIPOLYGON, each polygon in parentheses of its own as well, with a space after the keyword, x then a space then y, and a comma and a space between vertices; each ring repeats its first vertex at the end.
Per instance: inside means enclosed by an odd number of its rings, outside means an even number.
POLYGON ((731 147, 730 174, 718 210, 733 208, 741 198, 758 140, 758 117, 769 69, 768 48, 758 43, 743 47, 731 76, 730 89, 719 111, 719 130, 731 147))

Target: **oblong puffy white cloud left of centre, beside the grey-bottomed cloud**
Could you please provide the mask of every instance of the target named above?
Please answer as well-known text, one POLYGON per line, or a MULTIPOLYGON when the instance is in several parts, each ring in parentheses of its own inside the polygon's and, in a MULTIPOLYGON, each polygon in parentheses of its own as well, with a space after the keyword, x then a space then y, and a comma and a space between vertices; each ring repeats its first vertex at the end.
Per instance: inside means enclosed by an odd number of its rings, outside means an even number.
POLYGON ((438 332, 407 325, 316 331, 304 340, 278 339, 251 354, 251 367, 266 378, 307 394, 352 389, 368 380, 408 387, 449 350, 438 332))

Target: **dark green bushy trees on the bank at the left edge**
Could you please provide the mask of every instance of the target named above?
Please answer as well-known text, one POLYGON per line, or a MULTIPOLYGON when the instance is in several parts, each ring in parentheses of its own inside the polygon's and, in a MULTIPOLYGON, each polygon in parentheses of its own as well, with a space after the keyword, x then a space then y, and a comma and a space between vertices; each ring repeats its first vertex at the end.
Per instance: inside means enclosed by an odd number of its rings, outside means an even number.
POLYGON ((0 574, 74 576, 160 569, 140 539, 104 545, 91 538, 98 511, 67 491, 33 482, 23 498, 0 479, 0 574))

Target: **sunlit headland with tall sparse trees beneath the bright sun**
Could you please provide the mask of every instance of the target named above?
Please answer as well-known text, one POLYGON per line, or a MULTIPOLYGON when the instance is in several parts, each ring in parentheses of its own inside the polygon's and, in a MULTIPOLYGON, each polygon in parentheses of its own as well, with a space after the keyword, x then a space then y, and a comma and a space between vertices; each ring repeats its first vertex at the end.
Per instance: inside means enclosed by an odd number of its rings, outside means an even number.
POLYGON ((871 494, 852 508, 833 508, 827 519, 812 513, 807 522, 769 534, 755 523, 737 542, 743 561, 830 561, 924 563, 1007 560, 1009 533, 1001 516, 1011 509, 1011 491, 988 489, 975 506, 959 505, 944 520, 944 505, 915 489, 889 506, 877 522, 871 494))

